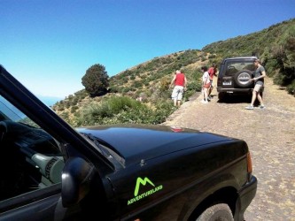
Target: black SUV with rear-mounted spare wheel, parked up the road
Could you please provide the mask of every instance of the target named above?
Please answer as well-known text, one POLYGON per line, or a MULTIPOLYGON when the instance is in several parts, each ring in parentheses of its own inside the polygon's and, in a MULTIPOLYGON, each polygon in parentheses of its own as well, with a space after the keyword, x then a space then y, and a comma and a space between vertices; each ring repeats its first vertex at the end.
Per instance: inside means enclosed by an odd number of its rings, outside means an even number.
MULTIPOLYGON (((250 81, 250 79, 253 78, 255 71, 255 59, 257 57, 230 57, 223 59, 216 88, 220 100, 225 95, 252 95, 254 82, 250 81)), ((261 91, 263 91, 263 88, 261 91)))

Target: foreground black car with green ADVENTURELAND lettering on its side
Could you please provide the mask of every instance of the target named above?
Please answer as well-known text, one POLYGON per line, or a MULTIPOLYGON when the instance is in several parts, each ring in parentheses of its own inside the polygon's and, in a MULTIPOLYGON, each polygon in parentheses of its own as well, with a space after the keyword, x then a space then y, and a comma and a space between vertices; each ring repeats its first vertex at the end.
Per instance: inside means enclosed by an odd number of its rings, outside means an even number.
POLYGON ((0 68, 0 220, 205 220, 208 208, 244 220, 257 188, 245 141, 169 126, 74 129, 0 68))

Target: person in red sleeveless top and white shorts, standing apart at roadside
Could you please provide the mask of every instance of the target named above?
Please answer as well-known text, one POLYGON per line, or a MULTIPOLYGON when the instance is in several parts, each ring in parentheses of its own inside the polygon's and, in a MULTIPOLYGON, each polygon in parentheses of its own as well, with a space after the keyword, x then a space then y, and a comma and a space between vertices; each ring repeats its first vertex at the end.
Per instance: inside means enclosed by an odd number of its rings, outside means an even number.
POLYGON ((174 78, 171 80, 169 88, 173 88, 171 98, 174 101, 175 107, 180 107, 184 90, 186 90, 187 80, 184 73, 177 70, 174 78))

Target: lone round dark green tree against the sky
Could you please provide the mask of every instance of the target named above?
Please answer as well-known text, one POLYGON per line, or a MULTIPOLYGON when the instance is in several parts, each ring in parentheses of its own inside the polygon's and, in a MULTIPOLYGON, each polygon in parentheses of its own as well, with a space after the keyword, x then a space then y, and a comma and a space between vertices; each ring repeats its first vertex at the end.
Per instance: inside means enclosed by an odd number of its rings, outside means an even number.
POLYGON ((82 77, 82 85, 91 97, 104 95, 109 87, 108 79, 104 65, 92 65, 82 77))

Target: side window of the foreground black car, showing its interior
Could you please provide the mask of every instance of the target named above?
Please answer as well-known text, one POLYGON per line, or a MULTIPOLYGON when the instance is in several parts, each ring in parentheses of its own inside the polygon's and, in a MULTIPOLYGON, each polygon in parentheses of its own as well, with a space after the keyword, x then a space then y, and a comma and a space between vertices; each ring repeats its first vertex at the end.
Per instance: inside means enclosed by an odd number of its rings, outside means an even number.
POLYGON ((0 95, 0 202, 59 184, 65 164, 61 146, 0 95))

